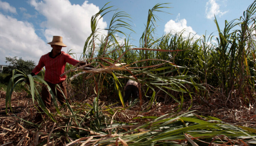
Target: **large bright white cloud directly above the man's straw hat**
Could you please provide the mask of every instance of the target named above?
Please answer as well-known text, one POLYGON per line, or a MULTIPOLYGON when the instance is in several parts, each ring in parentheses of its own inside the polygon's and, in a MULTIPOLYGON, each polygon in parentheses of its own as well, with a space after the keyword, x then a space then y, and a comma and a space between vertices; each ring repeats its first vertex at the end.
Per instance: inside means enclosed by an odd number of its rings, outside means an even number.
MULTIPOLYGON (((31 0, 30 4, 47 19, 41 26, 45 28, 44 36, 48 42, 52 41, 53 36, 59 35, 68 46, 66 48, 74 49, 74 53, 83 52, 85 40, 91 33, 91 16, 99 12, 98 6, 88 4, 88 1, 82 5, 72 5, 69 0, 31 0)), ((106 22, 100 19, 98 27, 105 29, 106 26, 106 22)), ((106 31, 101 33, 106 34, 106 31)), ((65 49, 62 50, 67 52, 65 49)))

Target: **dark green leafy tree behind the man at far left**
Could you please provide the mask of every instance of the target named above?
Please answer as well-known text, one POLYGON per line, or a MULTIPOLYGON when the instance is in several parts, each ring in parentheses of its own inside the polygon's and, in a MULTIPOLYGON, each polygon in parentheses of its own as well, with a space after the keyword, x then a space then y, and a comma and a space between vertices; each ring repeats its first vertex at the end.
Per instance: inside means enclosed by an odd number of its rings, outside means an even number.
POLYGON ((35 62, 32 60, 23 60, 21 57, 5 57, 5 63, 9 62, 9 66, 3 68, 3 73, 11 74, 12 70, 17 69, 24 72, 25 74, 30 74, 35 68, 35 62))

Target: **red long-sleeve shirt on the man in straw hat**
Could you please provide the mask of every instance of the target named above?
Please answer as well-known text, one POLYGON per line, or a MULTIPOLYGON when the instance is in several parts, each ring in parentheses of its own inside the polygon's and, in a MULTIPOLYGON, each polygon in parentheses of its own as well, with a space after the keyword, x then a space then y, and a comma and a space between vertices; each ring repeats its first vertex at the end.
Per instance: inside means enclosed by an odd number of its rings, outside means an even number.
POLYGON ((33 69, 32 73, 38 74, 45 66, 44 80, 52 84, 60 83, 66 79, 66 75, 60 76, 65 72, 66 63, 76 65, 79 61, 73 59, 69 54, 61 51, 56 57, 50 57, 51 52, 43 55, 38 65, 33 69))

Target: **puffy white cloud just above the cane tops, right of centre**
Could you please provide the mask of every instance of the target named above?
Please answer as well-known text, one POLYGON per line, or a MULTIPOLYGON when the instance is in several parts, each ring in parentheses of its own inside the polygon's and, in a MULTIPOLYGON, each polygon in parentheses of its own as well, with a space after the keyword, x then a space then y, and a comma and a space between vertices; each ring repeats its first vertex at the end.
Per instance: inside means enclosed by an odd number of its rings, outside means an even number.
MULTIPOLYGON (((197 35, 196 32, 192 29, 191 26, 187 26, 187 20, 186 19, 180 19, 180 14, 177 15, 176 20, 170 20, 165 24, 165 33, 179 33, 183 32, 184 37, 188 37, 189 33, 192 33, 191 35, 195 35, 196 38, 200 38, 200 35, 197 35)), ((191 36, 190 35, 190 36, 191 36)))

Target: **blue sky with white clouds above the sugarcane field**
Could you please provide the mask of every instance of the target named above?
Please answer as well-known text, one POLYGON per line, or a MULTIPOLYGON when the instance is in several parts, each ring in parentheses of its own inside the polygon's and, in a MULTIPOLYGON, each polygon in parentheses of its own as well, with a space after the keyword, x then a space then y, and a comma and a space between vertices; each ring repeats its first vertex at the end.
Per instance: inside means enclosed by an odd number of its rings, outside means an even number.
MULTIPOLYGON (((82 53, 83 45, 90 32, 91 16, 107 2, 113 10, 130 15, 130 34, 134 45, 145 29, 148 10, 157 3, 170 3, 163 11, 156 12, 161 19, 157 22, 157 34, 186 29, 187 33, 217 35, 214 14, 224 28, 225 20, 239 19, 254 0, 0 0, 0 65, 6 65, 5 57, 17 56, 38 63, 40 57, 51 51, 47 42, 52 36, 60 35, 68 47, 82 53)), ((107 14, 98 23, 99 28, 108 27, 113 13, 107 14)), ((102 31, 102 33, 105 33, 102 31)), ((120 34, 120 37, 124 37, 120 34)), ((80 56, 77 54, 77 56, 80 56)), ((8 63, 7 63, 8 64, 8 63)))

